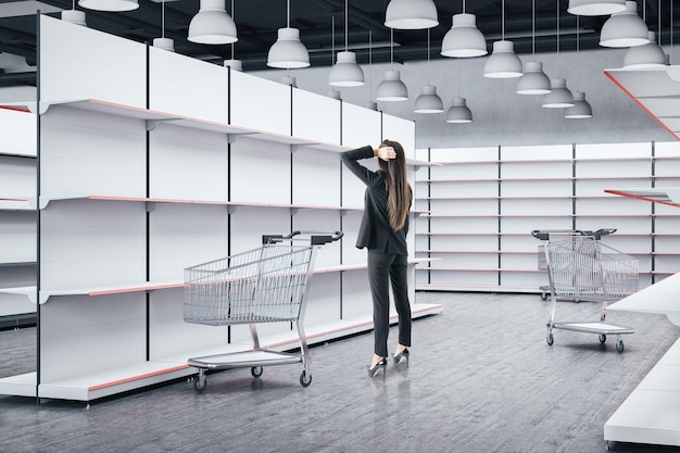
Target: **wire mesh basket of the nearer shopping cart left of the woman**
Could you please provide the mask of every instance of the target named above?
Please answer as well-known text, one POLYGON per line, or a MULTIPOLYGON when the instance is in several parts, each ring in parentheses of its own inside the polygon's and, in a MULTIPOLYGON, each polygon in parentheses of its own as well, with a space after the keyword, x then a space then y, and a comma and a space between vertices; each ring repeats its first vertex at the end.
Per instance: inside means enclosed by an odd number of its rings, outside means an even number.
POLYGON ((185 269, 184 319, 210 326, 297 320, 312 246, 264 244, 185 269))

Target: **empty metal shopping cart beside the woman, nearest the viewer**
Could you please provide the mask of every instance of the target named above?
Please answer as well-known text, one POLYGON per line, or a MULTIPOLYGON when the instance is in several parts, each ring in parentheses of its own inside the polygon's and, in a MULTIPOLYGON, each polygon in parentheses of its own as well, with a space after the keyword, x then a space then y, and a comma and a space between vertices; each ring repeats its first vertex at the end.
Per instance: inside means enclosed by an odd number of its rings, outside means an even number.
POLYGON ((342 231, 293 231, 263 236, 262 247, 185 269, 184 319, 207 326, 250 325, 253 348, 243 352, 189 358, 198 368, 193 388, 205 389, 207 370, 250 367, 260 378, 263 366, 302 363, 300 383, 312 383, 304 335, 305 293, 317 250, 339 240, 342 231), (304 235, 300 237, 299 235, 304 235), (300 353, 263 350, 259 323, 295 322, 300 353))

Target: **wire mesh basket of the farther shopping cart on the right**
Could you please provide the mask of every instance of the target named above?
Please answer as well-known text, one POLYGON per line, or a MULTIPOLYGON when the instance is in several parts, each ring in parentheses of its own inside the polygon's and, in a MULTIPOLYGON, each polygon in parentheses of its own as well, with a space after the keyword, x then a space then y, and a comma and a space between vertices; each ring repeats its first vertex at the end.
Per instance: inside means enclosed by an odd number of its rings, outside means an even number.
POLYGON ((556 297, 617 301, 638 291, 638 260, 592 236, 574 236, 543 247, 556 297))

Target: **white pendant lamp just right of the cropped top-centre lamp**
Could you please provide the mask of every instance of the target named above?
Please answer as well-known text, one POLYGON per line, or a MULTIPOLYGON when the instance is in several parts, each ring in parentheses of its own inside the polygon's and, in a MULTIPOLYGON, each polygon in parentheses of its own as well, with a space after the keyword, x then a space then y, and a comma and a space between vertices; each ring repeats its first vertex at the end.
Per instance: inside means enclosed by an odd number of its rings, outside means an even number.
MULTIPOLYGON (((465 1, 463 2, 465 11, 465 1)), ((453 16, 451 29, 444 35, 441 54, 452 58, 473 58, 488 53, 484 35, 477 28, 475 14, 456 14, 453 16)))

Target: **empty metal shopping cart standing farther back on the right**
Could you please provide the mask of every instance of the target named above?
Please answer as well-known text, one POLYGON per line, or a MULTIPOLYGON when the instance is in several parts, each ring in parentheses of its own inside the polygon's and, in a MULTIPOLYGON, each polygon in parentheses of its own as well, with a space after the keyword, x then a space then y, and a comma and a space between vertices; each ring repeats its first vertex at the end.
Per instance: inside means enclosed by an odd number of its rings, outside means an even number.
MULTIPOLYGON (((604 343, 607 335, 616 335, 616 350, 624 352, 621 335, 634 329, 605 322, 607 304, 638 290, 638 260, 600 242, 603 234, 613 230, 533 230, 544 241, 544 255, 552 307, 545 340, 552 345, 553 329, 596 334, 604 343), (601 302, 599 322, 555 323, 558 298, 601 302)), ((614 230, 615 231, 615 230, 614 230)))

